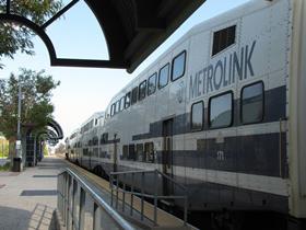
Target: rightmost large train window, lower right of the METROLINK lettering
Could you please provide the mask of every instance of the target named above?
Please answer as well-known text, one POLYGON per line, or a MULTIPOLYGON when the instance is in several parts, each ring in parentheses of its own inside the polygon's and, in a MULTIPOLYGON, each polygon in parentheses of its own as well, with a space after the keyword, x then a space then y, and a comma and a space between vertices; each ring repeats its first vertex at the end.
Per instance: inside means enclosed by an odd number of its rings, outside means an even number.
POLYGON ((240 100, 243 124, 260 123, 263 119, 263 83, 244 87, 240 100))

